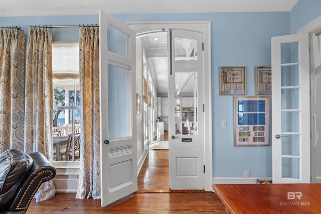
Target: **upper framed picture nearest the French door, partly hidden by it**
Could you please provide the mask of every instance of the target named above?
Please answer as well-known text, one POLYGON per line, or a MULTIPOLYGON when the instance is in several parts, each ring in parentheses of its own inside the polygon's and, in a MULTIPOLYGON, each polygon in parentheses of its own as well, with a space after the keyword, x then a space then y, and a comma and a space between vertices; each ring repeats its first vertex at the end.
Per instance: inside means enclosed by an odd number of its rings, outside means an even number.
POLYGON ((271 66, 255 66, 255 94, 271 92, 271 66))

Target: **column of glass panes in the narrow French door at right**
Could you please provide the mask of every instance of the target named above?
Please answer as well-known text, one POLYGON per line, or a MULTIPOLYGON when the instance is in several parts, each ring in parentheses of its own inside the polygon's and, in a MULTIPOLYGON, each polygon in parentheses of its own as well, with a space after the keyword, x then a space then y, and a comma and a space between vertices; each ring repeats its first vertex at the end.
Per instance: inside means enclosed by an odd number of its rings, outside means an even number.
POLYGON ((298 42, 281 44, 282 178, 300 178, 298 42))

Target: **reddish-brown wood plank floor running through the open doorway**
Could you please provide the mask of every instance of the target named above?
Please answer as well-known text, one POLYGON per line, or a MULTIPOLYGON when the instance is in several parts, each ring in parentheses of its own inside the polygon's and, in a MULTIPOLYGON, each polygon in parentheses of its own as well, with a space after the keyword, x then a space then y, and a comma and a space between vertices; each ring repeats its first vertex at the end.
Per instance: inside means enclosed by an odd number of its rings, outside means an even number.
POLYGON ((213 192, 170 192, 168 150, 150 150, 138 176, 138 190, 108 206, 99 199, 76 199, 76 193, 56 193, 41 202, 32 200, 33 213, 224 213, 213 192), (159 193, 162 192, 162 193, 159 193))

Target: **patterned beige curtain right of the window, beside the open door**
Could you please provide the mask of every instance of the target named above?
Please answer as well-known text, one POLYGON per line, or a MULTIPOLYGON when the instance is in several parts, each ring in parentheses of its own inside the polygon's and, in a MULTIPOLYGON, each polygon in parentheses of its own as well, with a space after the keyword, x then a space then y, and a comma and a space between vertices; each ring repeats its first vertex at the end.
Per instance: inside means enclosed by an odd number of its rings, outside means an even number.
POLYGON ((99 28, 79 27, 80 177, 76 198, 100 198, 99 28))

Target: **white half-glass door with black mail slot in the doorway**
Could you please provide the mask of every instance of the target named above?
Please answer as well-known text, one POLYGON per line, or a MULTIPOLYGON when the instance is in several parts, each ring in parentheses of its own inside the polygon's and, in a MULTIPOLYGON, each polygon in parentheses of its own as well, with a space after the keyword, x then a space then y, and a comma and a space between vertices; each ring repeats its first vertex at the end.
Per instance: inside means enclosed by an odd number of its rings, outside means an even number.
POLYGON ((170 30, 169 43, 170 188, 204 189, 203 34, 170 30))

